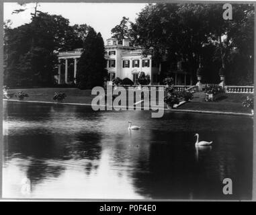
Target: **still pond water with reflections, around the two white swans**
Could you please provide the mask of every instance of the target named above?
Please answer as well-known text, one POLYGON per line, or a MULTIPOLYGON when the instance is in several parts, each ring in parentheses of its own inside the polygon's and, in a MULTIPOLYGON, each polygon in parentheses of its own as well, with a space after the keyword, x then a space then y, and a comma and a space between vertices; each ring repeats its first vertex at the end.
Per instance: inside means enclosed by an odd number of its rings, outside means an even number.
POLYGON ((4 102, 3 196, 250 199, 253 120, 4 102), (140 130, 128 130, 128 120, 140 130), (212 146, 196 147, 200 140, 212 146), (232 179, 233 194, 222 193, 232 179), (24 189, 24 186, 27 189, 24 189))

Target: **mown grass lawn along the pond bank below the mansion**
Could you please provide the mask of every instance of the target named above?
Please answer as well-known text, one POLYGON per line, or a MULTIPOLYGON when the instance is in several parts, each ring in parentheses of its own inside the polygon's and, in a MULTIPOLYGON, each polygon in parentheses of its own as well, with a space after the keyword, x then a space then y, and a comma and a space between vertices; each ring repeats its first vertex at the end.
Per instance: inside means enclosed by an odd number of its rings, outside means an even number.
MULTIPOLYGON (((92 99, 96 95, 91 95, 91 90, 80 90, 75 88, 39 88, 39 89, 9 89, 9 93, 17 93, 17 91, 24 91, 28 93, 25 101, 54 101, 52 97, 54 92, 65 92, 67 97, 63 102, 66 103, 86 103, 91 104, 92 99)), ((253 97, 253 94, 247 93, 223 93, 220 97, 213 102, 196 102, 190 101, 179 107, 178 110, 207 110, 207 111, 220 111, 220 112, 236 112, 251 114, 249 108, 242 107, 242 101, 247 97, 253 97)), ((17 99, 12 97, 11 99, 17 99)), ((127 98, 127 103, 128 103, 127 98)), ((130 98, 131 99, 131 98, 130 98)), ((163 101, 162 101, 163 102, 163 101)), ((165 105, 166 107, 166 105, 165 105)))

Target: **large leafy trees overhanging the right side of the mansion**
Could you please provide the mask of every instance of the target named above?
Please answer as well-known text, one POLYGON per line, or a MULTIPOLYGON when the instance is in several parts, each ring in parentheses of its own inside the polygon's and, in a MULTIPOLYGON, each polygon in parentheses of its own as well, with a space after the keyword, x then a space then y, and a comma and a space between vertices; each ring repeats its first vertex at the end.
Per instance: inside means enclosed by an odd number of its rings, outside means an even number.
POLYGON ((131 24, 130 38, 142 46, 144 54, 165 58, 170 64, 182 60, 192 74, 202 58, 204 66, 211 65, 205 69, 206 78, 223 68, 230 83, 251 83, 254 7, 232 4, 233 18, 224 20, 222 6, 148 4, 131 24))

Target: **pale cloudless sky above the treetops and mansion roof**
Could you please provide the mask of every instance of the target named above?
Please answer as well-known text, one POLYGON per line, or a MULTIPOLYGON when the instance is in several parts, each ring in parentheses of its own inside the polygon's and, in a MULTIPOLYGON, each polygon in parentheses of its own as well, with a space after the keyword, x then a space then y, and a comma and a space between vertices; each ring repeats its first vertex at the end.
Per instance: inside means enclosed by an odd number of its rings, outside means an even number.
MULTIPOLYGON (((4 3, 3 20, 11 19, 11 28, 30 23, 30 18, 34 11, 34 3, 29 3, 26 7, 30 9, 11 14, 13 10, 20 9, 17 3, 4 3)), ((120 24, 122 17, 129 17, 134 22, 136 13, 139 13, 146 4, 144 3, 40 3, 38 10, 49 14, 62 15, 69 19, 70 25, 87 24, 100 32, 103 40, 111 37, 111 30, 120 24)))

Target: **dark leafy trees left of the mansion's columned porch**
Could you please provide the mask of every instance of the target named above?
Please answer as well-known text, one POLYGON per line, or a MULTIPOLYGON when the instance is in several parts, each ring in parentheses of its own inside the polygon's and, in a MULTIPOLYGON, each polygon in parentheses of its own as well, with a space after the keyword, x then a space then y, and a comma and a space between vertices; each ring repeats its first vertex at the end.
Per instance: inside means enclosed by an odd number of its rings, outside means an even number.
POLYGON ((89 28, 40 11, 30 24, 13 29, 9 24, 4 28, 4 84, 9 87, 54 85, 58 51, 81 48, 89 28))

